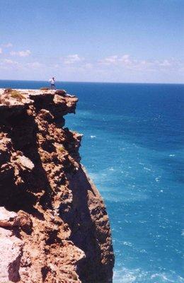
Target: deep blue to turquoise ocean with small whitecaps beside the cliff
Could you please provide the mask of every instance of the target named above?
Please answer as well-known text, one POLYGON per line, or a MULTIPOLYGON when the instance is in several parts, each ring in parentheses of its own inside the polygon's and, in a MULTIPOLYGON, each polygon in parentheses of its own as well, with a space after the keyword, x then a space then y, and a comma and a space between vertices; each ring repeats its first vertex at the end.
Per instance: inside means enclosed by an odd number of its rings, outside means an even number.
MULTIPOLYGON (((40 88, 44 81, 0 81, 40 88)), ((57 83, 79 97, 66 126, 105 200, 113 283, 180 283, 183 271, 184 85, 57 83)))

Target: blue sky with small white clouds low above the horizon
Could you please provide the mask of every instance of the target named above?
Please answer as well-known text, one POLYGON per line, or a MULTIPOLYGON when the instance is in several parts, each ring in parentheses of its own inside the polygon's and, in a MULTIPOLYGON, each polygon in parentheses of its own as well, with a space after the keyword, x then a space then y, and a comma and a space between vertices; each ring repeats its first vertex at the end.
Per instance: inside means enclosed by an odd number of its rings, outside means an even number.
POLYGON ((183 0, 0 0, 0 79, 184 83, 183 0))

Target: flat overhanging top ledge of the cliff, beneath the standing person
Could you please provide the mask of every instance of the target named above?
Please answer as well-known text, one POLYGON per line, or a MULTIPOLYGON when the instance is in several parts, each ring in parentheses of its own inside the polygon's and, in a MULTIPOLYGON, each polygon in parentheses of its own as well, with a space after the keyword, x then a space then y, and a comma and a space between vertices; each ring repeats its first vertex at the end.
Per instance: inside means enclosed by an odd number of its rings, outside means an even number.
POLYGON ((69 95, 66 91, 41 89, 12 89, 0 88, 0 115, 4 117, 19 115, 33 105, 35 108, 54 112, 54 117, 74 113, 76 96, 69 95))

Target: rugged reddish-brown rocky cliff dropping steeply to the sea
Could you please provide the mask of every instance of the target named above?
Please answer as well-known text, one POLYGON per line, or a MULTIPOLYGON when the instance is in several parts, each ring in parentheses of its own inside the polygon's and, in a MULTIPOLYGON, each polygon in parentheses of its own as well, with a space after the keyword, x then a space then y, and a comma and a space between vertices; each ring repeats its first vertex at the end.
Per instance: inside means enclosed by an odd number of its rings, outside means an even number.
POLYGON ((112 282, 108 215, 64 128, 76 102, 0 90, 0 282, 112 282))

